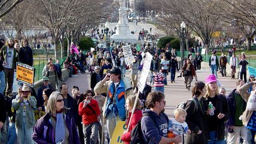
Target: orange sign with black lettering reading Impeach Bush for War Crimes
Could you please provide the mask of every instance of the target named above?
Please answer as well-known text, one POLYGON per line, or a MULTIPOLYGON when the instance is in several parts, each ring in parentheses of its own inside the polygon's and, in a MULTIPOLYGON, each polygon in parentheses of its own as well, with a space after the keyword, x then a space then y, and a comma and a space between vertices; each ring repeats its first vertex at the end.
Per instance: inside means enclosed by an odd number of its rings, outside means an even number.
POLYGON ((34 67, 20 62, 16 63, 16 80, 28 86, 34 85, 34 67))

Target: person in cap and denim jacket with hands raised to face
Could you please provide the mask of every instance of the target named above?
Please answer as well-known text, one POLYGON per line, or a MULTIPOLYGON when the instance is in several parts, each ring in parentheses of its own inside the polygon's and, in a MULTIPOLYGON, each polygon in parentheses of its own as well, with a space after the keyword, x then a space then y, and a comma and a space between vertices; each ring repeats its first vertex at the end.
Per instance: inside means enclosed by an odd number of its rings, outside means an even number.
POLYGON ((17 143, 34 143, 32 140, 33 127, 35 125, 34 110, 37 108, 37 100, 31 95, 28 86, 22 87, 22 95, 12 101, 16 113, 17 143), (25 133, 24 133, 25 132, 25 133))

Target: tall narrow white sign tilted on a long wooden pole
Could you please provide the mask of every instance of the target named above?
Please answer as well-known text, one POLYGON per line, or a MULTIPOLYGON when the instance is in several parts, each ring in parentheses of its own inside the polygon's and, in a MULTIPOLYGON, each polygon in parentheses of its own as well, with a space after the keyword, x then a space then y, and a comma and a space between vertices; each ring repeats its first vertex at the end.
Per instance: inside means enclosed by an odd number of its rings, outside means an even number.
POLYGON ((141 93, 143 92, 145 83, 147 82, 148 72, 150 71, 152 58, 153 56, 149 52, 147 52, 146 57, 144 59, 143 68, 142 68, 141 79, 139 79, 139 85, 138 85, 139 91, 141 93))

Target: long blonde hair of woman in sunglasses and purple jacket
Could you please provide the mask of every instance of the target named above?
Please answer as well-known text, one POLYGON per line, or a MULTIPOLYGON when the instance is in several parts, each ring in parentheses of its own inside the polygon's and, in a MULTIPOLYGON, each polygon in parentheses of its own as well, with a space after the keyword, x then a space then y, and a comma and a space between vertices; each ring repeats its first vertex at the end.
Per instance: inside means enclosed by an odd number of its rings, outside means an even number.
POLYGON ((52 94, 50 94, 50 97, 47 102, 47 106, 46 106, 47 111, 46 112, 51 113, 53 116, 56 115, 56 102, 57 102, 59 96, 64 98, 60 92, 52 92, 52 94))

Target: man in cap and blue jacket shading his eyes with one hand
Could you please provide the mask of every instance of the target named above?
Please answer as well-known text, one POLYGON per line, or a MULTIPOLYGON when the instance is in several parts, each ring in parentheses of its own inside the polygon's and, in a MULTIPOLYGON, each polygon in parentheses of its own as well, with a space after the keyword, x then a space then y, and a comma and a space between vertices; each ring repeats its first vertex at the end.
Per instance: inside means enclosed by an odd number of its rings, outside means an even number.
POLYGON ((103 118, 106 118, 109 137, 115 130, 117 121, 126 119, 126 110, 124 109, 127 95, 133 95, 130 80, 121 77, 121 70, 114 67, 109 71, 105 78, 94 87, 95 93, 107 93, 105 104, 103 106, 103 118))

